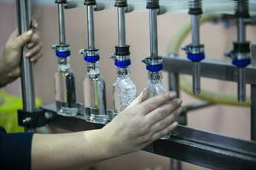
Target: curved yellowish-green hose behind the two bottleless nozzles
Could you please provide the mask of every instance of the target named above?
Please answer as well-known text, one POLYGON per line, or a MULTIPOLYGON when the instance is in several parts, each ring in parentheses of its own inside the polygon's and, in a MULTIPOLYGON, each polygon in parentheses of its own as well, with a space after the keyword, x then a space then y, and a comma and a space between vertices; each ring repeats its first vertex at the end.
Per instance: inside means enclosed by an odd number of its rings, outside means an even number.
MULTIPOLYGON (((220 15, 218 14, 205 14, 201 17, 201 25, 205 24, 212 20, 217 20, 220 15)), ((186 37, 189 36, 191 31, 191 23, 186 23, 182 26, 177 34, 172 38, 171 45, 169 47, 171 53, 178 54, 179 49, 181 48, 183 41, 186 37)), ((251 105, 251 100, 247 99, 246 102, 240 103, 237 100, 236 95, 229 95, 229 94, 218 94, 218 92, 201 89, 201 94, 195 95, 192 92, 192 83, 189 82, 186 77, 180 76, 180 86, 181 89, 191 96, 194 96, 196 99, 202 99, 209 103, 216 104, 216 105, 236 105, 242 107, 249 107, 251 105)))

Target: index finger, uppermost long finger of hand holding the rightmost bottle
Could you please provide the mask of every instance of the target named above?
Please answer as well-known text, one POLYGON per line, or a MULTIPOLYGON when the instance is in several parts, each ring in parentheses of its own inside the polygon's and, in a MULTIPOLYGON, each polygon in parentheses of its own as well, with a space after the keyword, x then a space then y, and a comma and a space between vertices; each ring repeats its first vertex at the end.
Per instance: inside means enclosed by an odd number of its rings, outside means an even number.
POLYGON ((142 114, 147 115, 150 111, 154 111, 160 105, 164 105, 166 101, 175 99, 176 96, 176 93, 167 93, 158 95, 151 99, 147 99, 146 101, 143 101, 141 105, 139 105, 140 111, 142 111, 142 114))

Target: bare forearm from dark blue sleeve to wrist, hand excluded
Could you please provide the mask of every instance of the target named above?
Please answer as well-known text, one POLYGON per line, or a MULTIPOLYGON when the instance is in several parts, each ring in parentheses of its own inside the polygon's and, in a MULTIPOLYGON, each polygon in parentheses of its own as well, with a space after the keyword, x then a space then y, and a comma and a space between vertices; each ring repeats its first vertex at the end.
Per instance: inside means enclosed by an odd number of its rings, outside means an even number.
POLYGON ((35 134, 32 169, 77 169, 113 157, 102 130, 35 134))

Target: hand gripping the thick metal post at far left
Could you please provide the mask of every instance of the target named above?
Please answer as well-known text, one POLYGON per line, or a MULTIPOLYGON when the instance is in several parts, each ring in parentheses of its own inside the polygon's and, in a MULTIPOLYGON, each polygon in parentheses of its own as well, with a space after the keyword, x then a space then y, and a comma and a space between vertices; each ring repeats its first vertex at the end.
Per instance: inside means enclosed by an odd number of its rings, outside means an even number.
POLYGON ((14 81, 20 77, 20 56, 21 48, 27 44, 26 56, 33 63, 37 62, 42 57, 42 42, 38 32, 38 22, 32 21, 32 29, 26 31, 22 35, 18 35, 18 31, 14 31, 9 37, 3 48, 1 56, 1 72, 7 74, 9 81, 14 81))

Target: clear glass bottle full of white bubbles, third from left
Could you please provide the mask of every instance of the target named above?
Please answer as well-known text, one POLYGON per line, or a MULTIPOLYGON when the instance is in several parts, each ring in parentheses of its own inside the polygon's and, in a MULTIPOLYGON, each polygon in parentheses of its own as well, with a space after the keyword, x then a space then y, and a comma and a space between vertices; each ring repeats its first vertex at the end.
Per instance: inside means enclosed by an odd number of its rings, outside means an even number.
POLYGON ((130 67, 118 67, 118 77, 113 83, 113 106, 114 113, 118 114, 136 99, 136 86, 131 81, 130 67))

